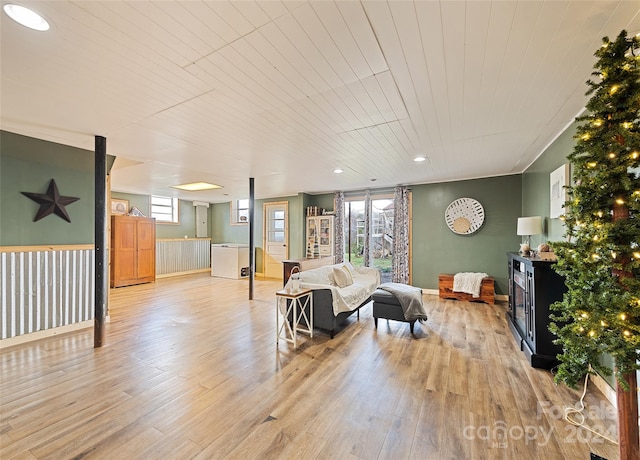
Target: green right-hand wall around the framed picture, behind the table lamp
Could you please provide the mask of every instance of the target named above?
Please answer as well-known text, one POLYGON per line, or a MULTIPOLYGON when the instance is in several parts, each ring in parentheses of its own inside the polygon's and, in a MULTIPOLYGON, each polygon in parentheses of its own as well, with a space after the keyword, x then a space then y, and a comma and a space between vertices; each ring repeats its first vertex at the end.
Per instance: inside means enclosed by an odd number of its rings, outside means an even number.
POLYGON ((543 234, 531 237, 531 246, 546 241, 564 239, 564 224, 560 219, 549 218, 550 180, 549 175, 559 166, 568 163, 575 144, 573 136, 576 124, 562 133, 522 175, 522 215, 542 216, 543 234))

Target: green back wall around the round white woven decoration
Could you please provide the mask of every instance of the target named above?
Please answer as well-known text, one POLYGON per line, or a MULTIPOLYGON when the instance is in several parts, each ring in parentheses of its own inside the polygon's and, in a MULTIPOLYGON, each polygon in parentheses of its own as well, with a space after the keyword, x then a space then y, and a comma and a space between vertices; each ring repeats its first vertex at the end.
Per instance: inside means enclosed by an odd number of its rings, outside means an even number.
POLYGON ((520 175, 411 186, 413 194, 413 284, 437 289, 439 273, 485 272, 496 293, 508 293, 507 252, 519 249, 520 175), (478 200, 483 226, 473 235, 456 235, 444 220, 455 199, 478 200))

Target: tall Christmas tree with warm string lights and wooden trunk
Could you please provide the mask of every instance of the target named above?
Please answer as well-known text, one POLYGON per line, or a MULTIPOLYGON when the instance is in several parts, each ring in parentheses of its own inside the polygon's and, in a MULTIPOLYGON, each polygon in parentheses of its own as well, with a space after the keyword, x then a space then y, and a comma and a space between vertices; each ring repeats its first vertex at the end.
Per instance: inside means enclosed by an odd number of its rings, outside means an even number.
POLYGON ((575 386, 587 372, 610 374, 600 356, 613 357, 621 459, 639 458, 639 50, 638 37, 622 31, 615 41, 603 38, 595 53, 587 81, 591 98, 586 115, 577 119, 576 145, 568 156, 573 185, 565 203, 567 241, 553 244, 555 268, 568 289, 554 305, 550 327, 563 347, 556 381, 575 386))

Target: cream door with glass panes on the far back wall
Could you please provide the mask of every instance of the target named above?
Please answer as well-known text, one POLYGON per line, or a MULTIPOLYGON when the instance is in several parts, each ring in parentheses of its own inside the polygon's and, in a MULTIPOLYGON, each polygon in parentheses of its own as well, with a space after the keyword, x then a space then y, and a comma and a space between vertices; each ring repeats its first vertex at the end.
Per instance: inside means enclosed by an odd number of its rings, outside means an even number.
POLYGON ((265 203, 264 276, 282 279, 282 261, 289 258, 289 203, 265 203))

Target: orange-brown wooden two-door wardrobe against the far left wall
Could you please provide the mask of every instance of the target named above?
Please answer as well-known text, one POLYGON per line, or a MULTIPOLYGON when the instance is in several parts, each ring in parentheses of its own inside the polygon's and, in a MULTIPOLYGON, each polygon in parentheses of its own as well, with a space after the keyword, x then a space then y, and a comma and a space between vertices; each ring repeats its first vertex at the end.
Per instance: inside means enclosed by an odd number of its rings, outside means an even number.
POLYGON ((111 216, 111 287, 156 280, 156 220, 111 216))

